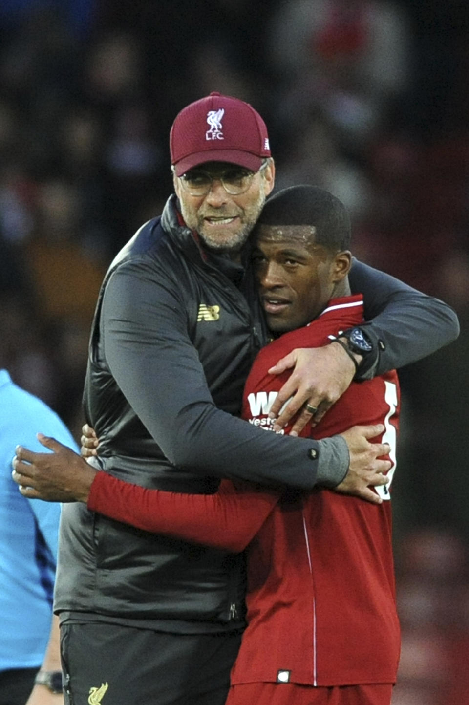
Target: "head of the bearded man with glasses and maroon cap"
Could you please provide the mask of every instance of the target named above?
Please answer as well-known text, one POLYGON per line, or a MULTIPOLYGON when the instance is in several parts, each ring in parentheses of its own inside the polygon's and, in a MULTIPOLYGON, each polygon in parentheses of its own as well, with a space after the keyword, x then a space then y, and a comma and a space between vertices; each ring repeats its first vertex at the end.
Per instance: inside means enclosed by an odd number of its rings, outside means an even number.
POLYGON ((211 93, 178 114, 169 146, 185 224, 209 250, 240 261, 274 188, 274 160, 261 116, 248 103, 211 93), (219 188, 211 188, 220 176, 219 188))

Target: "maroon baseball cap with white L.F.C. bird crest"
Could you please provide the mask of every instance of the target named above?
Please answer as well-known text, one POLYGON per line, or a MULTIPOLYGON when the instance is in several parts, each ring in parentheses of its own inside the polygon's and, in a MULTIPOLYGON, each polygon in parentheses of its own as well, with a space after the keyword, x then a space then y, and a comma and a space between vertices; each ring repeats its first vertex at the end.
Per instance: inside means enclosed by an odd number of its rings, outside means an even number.
POLYGON ((257 171, 270 157, 267 127, 249 103, 220 93, 190 103, 176 116, 169 134, 177 176, 205 161, 229 161, 257 171))

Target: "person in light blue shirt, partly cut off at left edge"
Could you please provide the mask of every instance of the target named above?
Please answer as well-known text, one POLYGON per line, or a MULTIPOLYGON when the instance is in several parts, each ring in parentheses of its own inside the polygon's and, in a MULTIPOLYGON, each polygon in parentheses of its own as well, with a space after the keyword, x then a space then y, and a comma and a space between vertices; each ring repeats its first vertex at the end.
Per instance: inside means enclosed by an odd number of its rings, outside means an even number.
POLYGON ((42 450, 36 433, 44 428, 77 449, 56 413, 0 369, 0 705, 25 705, 33 688, 44 691, 44 705, 63 701, 54 694, 61 666, 51 622, 61 505, 23 497, 11 478, 19 439, 42 450))

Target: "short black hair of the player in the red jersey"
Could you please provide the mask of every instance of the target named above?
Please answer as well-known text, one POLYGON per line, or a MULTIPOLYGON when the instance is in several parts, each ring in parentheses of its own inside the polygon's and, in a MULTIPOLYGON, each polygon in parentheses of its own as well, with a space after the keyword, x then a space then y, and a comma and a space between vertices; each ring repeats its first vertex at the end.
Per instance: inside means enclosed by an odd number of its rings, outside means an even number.
POLYGON ((351 221, 336 196, 317 186, 284 188, 269 197, 257 219, 258 225, 315 226, 315 243, 327 250, 348 250, 351 221))

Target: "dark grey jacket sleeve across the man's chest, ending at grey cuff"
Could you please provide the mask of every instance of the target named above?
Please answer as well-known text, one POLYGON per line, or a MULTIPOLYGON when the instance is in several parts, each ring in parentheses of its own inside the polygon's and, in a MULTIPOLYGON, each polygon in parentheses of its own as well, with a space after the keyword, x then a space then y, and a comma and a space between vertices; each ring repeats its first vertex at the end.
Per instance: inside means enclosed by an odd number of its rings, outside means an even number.
POLYGON ((182 296, 169 277, 155 278, 140 262, 114 271, 102 303, 106 362, 166 458, 180 470, 272 486, 339 484, 348 468, 341 436, 279 436, 214 405, 182 296))

